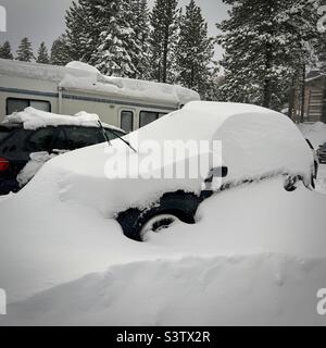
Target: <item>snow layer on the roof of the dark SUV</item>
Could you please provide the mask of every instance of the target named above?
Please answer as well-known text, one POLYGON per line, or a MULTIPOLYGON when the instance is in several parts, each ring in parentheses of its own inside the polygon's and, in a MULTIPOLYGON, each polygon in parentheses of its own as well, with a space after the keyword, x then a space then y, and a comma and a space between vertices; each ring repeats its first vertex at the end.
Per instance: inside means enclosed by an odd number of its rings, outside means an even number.
MULTIPOLYGON (((58 115, 46 111, 36 110, 34 108, 26 108, 24 111, 14 112, 4 117, 2 124, 23 124, 25 129, 38 129, 47 126, 83 126, 83 127, 98 127, 100 117, 95 113, 87 113, 85 111, 78 112, 74 116, 58 115)), ((124 132, 112 125, 103 124, 105 128, 124 132)))

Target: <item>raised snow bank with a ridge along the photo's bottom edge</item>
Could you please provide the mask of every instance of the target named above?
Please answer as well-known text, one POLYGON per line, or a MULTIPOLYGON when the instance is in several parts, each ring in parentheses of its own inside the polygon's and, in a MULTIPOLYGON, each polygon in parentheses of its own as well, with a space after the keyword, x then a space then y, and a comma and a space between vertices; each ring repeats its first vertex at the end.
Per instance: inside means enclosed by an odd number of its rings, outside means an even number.
POLYGON ((87 275, 9 306, 15 325, 325 325, 326 259, 180 258, 87 275))

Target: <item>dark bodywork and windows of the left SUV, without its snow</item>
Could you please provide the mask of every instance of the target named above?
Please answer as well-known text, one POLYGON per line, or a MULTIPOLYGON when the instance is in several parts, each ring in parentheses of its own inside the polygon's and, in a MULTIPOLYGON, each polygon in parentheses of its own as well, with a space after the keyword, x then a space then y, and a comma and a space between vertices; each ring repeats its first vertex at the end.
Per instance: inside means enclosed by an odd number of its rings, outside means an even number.
POLYGON ((0 195, 21 189, 16 177, 29 162, 30 153, 72 151, 124 135, 109 126, 61 125, 29 130, 22 124, 0 124, 0 195))

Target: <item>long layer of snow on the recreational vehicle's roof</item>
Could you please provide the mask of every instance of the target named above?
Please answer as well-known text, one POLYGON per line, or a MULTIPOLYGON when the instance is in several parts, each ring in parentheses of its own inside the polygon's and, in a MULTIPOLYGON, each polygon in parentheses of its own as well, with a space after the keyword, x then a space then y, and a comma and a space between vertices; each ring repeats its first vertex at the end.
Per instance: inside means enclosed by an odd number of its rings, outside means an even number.
POLYGON ((55 66, 0 59, 1 74, 52 80, 65 89, 88 90, 93 94, 110 94, 140 100, 146 98, 175 105, 200 100, 196 91, 178 85, 104 76, 96 67, 82 62, 55 66))

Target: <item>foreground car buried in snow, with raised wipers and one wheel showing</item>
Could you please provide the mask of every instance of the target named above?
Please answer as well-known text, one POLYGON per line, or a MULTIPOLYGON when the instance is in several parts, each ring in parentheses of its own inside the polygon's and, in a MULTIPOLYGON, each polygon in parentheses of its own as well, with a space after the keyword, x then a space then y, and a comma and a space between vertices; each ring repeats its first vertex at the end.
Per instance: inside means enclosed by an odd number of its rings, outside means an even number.
POLYGON ((116 219, 125 235, 136 240, 178 220, 195 223, 203 200, 238 185, 280 176, 289 191, 299 181, 313 186, 314 158, 300 130, 284 114, 256 105, 190 102, 121 140, 55 158, 39 179, 57 175, 61 200, 78 201, 116 219), (162 156, 168 144, 177 152, 189 141, 209 147, 162 156), (153 153, 154 161, 148 162, 153 153), (180 163, 189 167, 198 159, 204 159, 202 175, 158 175, 174 173, 171 169, 180 163))

